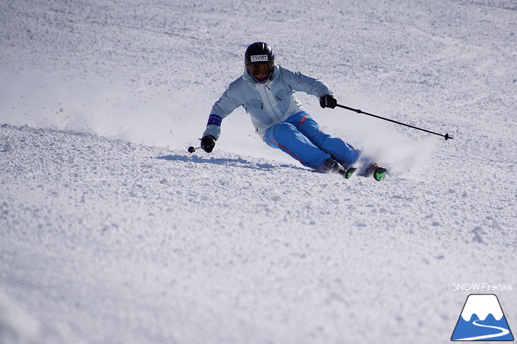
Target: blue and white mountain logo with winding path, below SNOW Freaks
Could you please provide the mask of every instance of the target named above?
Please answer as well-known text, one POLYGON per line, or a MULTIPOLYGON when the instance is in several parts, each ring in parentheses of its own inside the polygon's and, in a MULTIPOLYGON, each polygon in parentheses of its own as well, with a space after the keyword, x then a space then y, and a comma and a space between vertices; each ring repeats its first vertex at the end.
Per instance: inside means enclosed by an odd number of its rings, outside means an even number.
POLYGON ((470 294, 450 340, 512 341, 510 326, 496 295, 470 294))

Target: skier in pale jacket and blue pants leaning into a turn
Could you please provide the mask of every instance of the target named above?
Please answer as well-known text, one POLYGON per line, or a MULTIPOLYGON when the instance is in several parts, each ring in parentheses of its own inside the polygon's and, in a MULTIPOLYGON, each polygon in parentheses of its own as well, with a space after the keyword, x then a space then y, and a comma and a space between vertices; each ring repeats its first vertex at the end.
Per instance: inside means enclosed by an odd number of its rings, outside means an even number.
MULTIPOLYGON (((305 112, 295 91, 304 91, 319 98, 322 108, 335 108, 337 101, 323 81, 293 72, 275 63, 270 45, 255 42, 244 54, 245 70, 229 84, 215 102, 201 139, 201 148, 210 153, 220 137, 222 119, 242 106, 251 116, 257 134, 270 147, 281 149, 303 166, 320 172, 336 172, 350 177, 360 151, 342 139, 324 133, 318 123, 305 112)), ((386 170, 375 171, 376 164, 364 171, 382 180, 386 170)))

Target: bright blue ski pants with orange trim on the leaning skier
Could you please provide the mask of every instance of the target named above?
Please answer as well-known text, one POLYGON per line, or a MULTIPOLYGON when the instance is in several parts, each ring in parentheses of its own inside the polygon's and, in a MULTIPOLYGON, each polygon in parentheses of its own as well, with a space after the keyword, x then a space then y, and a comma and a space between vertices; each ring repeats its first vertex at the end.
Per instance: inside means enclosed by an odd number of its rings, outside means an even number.
POLYGON ((348 168, 360 156, 358 149, 322 132, 318 123, 305 111, 269 127, 264 139, 269 146, 285 151, 303 166, 312 168, 320 168, 329 158, 348 168))

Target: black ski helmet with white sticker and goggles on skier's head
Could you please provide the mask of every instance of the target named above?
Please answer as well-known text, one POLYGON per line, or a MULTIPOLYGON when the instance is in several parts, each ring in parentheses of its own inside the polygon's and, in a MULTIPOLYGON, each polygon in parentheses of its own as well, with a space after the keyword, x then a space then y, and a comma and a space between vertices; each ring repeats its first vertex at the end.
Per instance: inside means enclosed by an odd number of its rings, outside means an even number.
POLYGON ((273 77, 275 64, 273 48, 264 42, 254 42, 246 49, 244 64, 254 81, 259 84, 265 83, 273 77))

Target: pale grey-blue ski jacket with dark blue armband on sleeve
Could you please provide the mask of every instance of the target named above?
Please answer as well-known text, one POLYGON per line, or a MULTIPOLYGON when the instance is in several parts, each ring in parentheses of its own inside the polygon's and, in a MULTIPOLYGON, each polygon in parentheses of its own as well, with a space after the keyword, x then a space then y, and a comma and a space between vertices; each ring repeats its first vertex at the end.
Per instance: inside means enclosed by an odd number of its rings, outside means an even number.
POLYGON ((239 79, 229 84, 225 93, 213 105, 203 136, 212 135, 218 139, 222 119, 242 106, 251 116, 256 133, 263 139, 268 127, 284 122, 295 113, 305 110, 295 97, 295 91, 304 91, 317 96, 318 99, 332 94, 329 86, 323 81, 278 65, 274 67, 273 78, 265 84, 256 83, 247 71, 244 71, 239 79))

